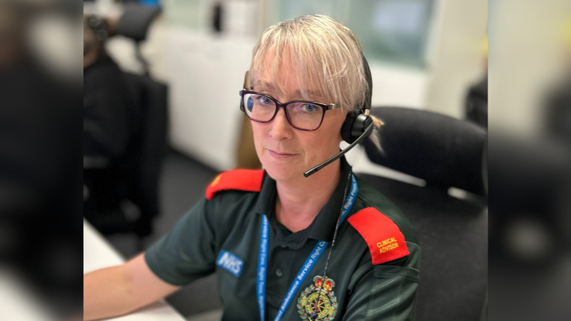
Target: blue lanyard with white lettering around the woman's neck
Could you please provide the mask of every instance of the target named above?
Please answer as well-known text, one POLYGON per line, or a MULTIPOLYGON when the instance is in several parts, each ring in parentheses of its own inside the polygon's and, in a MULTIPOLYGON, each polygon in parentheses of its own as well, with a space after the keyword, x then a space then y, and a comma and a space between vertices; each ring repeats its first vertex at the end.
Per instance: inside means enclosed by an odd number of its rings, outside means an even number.
MULTIPOLYGON (((353 207, 353 203, 355 202, 355 197, 357 196, 357 180, 355 180, 355 175, 351 175, 351 190, 349 195, 347 195, 347 200, 345 200, 345 205, 343 205, 343 210, 341 212, 341 219, 339 220, 339 224, 345 220, 345 216, 353 207)), ((261 238, 260 238, 260 254, 258 255, 258 282, 256 287, 256 292, 258 294, 258 307, 260 308, 260 319, 261 321, 266 320, 266 271, 268 270, 268 238, 269 238, 269 224, 268 218, 264 214, 262 217, 262 231, 261 231, 261 238)), ((323 250, 327 247, 328 242, 319 241, 315 248, 311 251, 311 254, 303 263, 303 266, 298 272, 298 275, 293 280, 293 283, 290 285, 290 289, 288 293, 283 298, 283 302, 280 306, 280 310, 276 315, 274 321, 281 320, 285 310, 288 308, 288 305, 295 295, 295 292, 298 291, 303 280, 309 274, 310 270, 315 265, 315 262, 319 259, 320 255, 323 253, 323 250)))

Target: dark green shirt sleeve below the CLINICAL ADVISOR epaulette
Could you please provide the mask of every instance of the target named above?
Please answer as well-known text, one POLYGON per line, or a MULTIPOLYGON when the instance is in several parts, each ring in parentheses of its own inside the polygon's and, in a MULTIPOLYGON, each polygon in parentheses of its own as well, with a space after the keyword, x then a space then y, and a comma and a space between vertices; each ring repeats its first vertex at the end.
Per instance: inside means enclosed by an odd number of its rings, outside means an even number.
POLYGON ((373 265, 370 254, 353 273, 343 321, 415 320, 420 247, 407 242, 410 254, 373 265))

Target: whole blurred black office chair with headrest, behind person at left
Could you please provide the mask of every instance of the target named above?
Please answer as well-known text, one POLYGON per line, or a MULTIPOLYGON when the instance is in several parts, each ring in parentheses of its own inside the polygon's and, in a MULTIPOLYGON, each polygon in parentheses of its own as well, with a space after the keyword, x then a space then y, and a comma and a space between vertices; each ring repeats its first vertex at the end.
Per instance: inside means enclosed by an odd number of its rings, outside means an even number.
MULTIPOLYGON (((146 6, 127 6, 125 13, 118 22, 117 34, 127 36, 136 41, 146 38, 148 25, 160 9, 146 6)), ((138 48, 138 46, 137 46, 138 48)), ((119 187, 113 192, 116 203, 135 205, 125 208, 106 209, 106 213, 86 213, 88 218, 103 234, 134 232, 139 239, 152 233, 152 220, 159 213, 158 178, 161 161, 166 152, 167 132, 167 86, 151 80, 148 77, 147 63, 137 51, 138 58, 145 66, 145 75, 138 76, 132 73, 123 73, 125 83, 130 91, 133 104, 137 107, 140 119, 133 119, 138 128, 133 135, 124 156, 114 160, 97 161, 86 170, 91 175, 107 175, 118 181, 119 187), (138 217, 129 218, 133 212, 138 217)), ((89 190, 89 186, 87 186, 89 190)), ((92 195, 96 196, 96 195, 92 195)), ((89 193, 84 195, 88 198, 89 193)), ((138 245, 142 247, 140 243, 138 245)))

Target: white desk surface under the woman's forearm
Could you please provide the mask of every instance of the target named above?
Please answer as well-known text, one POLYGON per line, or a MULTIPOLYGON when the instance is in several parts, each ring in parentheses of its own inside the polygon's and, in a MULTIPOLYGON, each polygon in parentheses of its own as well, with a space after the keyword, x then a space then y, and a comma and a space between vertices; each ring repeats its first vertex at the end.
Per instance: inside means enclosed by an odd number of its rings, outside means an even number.
MULTIPOLYGON (((123 257, 95 230, 91 224, 84 220, 84 273, 120 265, 123 257)), ((117 321, 186 321, 170 305, 163 300, 144 307, 131 315, 116 317, 108 320, 117 321)))

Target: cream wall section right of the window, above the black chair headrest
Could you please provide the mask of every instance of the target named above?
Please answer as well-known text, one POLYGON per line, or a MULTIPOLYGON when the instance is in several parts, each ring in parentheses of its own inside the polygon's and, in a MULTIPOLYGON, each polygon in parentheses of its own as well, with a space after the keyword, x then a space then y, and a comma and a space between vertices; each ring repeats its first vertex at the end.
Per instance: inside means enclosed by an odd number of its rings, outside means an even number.
POLYGON ((465 93, 485 73, 486 0, 440 0, 430 42, 425 108, 463 118, 465 93))

